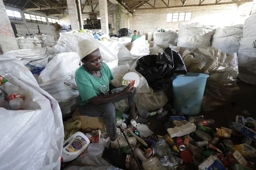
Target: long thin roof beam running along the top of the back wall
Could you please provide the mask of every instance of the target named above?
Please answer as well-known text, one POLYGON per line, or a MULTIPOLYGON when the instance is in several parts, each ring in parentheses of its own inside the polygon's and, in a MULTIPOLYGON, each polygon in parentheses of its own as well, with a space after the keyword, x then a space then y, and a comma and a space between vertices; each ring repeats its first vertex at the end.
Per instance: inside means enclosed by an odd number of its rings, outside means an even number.
MULTIPOLYGON (((202 1, 204 2, 204 0, 202 1)), ((201 2, 201 3, 202 3, 201 2)), ((238 1, 238 2, 224 2, 224 3, 207 3, 207 4, 195 4, 195 5, 187 5, 187 6, 169 6, 169 7, 155 7, 155 8, 133 8, 136 10, 147 10, 147 9, 165 9, 165 8, 182 8, 182 7, 193 7, 193 6, 214 6, 214 5, 227 5, 227 4, 234 4, 234 3, 247 3, 247 2, 253 2, 253 0, 248 1, 238 1)))

